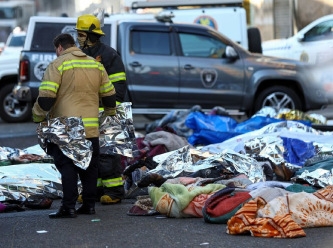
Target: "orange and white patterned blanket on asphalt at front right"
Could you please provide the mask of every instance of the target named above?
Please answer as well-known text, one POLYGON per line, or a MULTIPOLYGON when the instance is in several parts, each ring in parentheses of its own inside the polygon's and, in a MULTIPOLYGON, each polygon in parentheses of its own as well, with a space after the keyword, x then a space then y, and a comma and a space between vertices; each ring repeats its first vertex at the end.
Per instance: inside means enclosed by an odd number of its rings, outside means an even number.
POLYGON ((228 221, 227 233, 294 238, 305 236, 303 228, 323 226, 333 226, 333 186, 276 197, 268 203, 257 197, 228 221))

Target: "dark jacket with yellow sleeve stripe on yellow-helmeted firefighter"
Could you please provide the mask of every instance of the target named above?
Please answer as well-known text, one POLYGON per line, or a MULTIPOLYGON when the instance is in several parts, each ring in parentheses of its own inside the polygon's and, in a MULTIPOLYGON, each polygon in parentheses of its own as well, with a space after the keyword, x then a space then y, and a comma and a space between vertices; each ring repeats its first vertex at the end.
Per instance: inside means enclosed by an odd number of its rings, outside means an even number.
POLYGON ((101 62, 116 89, 117 103, 124 102, 127 90, 124 63, 115 49, 97 41, 94 46, 83 49, 87 55, 101 62))

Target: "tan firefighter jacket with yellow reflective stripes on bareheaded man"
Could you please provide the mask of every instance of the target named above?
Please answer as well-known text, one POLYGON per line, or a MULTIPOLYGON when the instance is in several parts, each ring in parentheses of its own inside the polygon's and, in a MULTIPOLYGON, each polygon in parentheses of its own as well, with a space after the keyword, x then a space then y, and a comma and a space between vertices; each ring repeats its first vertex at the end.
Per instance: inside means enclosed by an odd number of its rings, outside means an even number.
POLYGON ((46 68, 32 112, 44 117, 49 113, 50 118, 82 117, 86 138, 99 137, 99 104, 115 115, 115 94, 103 65, 71 47, 46 68))

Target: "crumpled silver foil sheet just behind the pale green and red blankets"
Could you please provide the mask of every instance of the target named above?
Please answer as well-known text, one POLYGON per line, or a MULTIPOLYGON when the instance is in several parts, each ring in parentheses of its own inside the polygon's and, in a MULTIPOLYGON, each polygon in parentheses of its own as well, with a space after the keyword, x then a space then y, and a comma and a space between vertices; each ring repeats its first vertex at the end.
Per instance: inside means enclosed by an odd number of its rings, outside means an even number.
MULTIPOLYGON (((165 178, 175 178, 181 173, 193 173, 223 165, 226 170, 235 175, 238 173, 247 175, 249 180, 254 183, 265 181, 263 168, 256 160, 232 150, 225 150, 220 154, 199 159, 195 163, 189 146, 168 153, 168 156, 164 154, 163 159, 160 158, 162 155, 154 157, 154 160, 156 162, 160 160, 160 163, 155 169, 150 170, 148 173, 157 173, 165 178)), ((196 156, 200 156, 200 154, 197 153, 196 156)))

